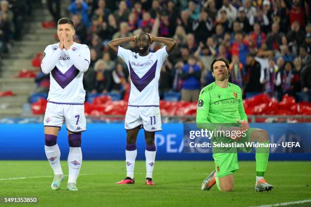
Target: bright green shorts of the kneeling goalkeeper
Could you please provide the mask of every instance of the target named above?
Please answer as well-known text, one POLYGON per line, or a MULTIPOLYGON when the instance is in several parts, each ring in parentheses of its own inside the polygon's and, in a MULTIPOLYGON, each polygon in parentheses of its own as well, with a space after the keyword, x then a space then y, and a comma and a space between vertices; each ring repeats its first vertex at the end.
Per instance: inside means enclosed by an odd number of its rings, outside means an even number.
MULTIPOLYGON (((246 143, 250 142, 251 140, 251 133, 255 128, 250 128, 246 132, 246 136, 242 137, 241 140, 239 140, 237 143, 246 143)), ((233 143, 235 141, 230 140, 229 138, 225 138, 226 143, 233 143)), ((222 153, 213 153, 213 158, 215 162, 215 169, 217 172, 217 177, 222 178, 225 176, 229 176, 233 174, 236 170, 239 169, 238 165, 238 159, 237 159, 237 152, 242 151, 242 152, 251 152, 253 148, 251 147, 246 147, 244 144, 243 148, 230 148, 226 151, 222 151, 222 153)))

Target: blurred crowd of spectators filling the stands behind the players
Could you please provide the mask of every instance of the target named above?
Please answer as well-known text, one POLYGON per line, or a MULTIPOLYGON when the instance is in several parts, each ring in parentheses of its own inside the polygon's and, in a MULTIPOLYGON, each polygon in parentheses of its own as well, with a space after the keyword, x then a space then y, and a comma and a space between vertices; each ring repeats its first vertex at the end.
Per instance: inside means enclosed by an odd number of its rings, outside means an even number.
MULTIPOLYGON (((57 21, 65 9, 52 7, 59 1, 48 3, 57 21)), ((144 31, 178 43, 161 70, 161 98, 174 91, 181 100, 197 101, 200 89, 214 81, 212 59, 225 57, 230 82, 244 97, 267 93, 279 100, 289 94, 311 101, 310 8, 300 0, 75 0, 66 12, 75 25, 74 41, 90 48, 88 94, 127 95, 128 69, 107 43, 144 31)), ((135 51, 133 43, 121 46, 135 51)), ((161 47, 153 43, 150 50, 161 47)))

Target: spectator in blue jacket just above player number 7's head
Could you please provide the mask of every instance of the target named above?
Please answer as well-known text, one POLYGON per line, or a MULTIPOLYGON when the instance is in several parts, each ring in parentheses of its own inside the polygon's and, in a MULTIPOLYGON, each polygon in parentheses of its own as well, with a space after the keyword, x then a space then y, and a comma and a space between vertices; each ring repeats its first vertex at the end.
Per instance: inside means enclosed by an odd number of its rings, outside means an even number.
POLYGON ((89 26, 88 5, 83 0, 76 0, 75 2, 71 3, 67 10, 73 15, 81 15, 84 25, 86 27, 89 26))

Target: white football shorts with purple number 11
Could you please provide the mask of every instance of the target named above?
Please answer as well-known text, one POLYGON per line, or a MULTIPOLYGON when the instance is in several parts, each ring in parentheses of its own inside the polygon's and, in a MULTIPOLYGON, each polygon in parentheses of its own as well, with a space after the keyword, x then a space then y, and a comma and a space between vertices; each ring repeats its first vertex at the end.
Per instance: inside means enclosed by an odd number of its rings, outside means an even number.
POLYGON ((161 131, 159 106, 129 106, 125 118, 125 129, 144 128, 146 131, 161 131))

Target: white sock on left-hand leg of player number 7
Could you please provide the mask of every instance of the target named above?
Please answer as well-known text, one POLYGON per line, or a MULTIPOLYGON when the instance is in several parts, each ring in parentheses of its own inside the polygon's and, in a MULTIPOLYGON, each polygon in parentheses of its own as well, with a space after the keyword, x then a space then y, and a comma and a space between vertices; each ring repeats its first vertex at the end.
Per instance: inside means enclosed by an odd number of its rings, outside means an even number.
POLYGON ((58 145, 54 146, 44 146, 46 157, 54 171, 54 175, 60 175, 63 174, 63 170, 61 170, 60 166, 60 150, 58 145))

